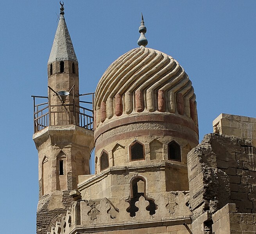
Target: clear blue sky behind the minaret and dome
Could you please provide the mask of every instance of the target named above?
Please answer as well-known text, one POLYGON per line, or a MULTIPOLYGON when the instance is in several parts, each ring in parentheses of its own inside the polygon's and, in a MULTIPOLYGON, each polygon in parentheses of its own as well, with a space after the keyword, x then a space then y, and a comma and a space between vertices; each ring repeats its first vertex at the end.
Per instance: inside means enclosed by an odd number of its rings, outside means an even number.
MULTIPOLYGON (((256 1, 66 0, 79 60, 80 93, 95 91, 107 67, 137 47, 143 12, 148 47, 171 55, 197 95, 200 138, 220 113, 256 117, 256 1)), ((3 1, 0 7, 0 233, 35 233, 38 155, 31 95, 47 95, 47 61, 59 1, 3 1)))

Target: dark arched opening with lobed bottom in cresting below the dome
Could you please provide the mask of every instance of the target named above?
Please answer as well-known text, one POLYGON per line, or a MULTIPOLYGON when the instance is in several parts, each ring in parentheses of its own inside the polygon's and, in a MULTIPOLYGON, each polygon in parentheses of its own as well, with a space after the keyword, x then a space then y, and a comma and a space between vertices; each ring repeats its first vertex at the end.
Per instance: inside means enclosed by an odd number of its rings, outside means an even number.
POLYGON ((128 201, 130 204, 130 207, 127 209, 127 212, 130 213, 130 216, 131 217, 136 216, 136 212, 139 210, 139 208, 136 207, 135 203, 138 202, 141 196, 143 196, 145 200, 149 202, 149 205, 146 207, 146 211, 149 211, 150 215, 156 214, 157 206, 154 200, 151 200, 146 196, 145 179, 141 176, 134 177, 131 180, 130 188, 131 188, 131 199, 128 201))

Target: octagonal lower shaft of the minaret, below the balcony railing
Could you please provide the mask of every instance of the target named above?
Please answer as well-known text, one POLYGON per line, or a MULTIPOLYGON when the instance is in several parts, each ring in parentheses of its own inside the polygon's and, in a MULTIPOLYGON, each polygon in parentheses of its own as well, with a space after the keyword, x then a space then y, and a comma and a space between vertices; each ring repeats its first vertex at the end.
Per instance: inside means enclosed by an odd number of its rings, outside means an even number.
POLYGON ((33 139, 39 159, 37 233, 45 234, 70 208, 69 191, 77 188, 78 176, 90 174, 93 132, 76 125, 50 126, 33 139))

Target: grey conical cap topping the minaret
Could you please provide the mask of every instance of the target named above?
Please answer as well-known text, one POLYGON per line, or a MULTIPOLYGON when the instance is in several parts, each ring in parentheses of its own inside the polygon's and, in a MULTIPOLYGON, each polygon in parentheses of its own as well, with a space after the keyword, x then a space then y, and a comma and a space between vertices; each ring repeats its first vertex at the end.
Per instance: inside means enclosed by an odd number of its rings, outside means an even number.
POLYGON ((68 32, 68 27, 64 18, 64 7, 61 8, 61 14, 59 19, 59 24, 55 33, 54 42, 52 45, 52 50, 48 63, 55 61, 77 61, 77 56, 75 55, 75 50, 68 32))

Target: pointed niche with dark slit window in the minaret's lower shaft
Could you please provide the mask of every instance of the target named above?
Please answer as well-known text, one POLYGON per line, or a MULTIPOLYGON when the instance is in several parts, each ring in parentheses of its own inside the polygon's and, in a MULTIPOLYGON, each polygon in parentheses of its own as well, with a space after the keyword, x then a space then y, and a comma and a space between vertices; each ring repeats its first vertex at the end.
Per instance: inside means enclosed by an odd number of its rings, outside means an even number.
POLYGON ((67 190, 66 154, 62 150, 56 157, 56 190, 67 190))

